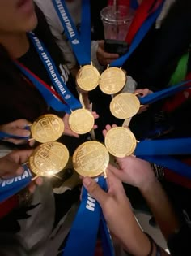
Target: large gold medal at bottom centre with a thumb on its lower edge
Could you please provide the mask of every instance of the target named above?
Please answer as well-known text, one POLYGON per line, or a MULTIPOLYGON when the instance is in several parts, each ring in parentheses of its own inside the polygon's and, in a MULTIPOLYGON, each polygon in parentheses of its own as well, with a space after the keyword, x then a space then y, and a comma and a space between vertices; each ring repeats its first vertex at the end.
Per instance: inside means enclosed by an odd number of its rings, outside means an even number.
POLYGON ((75 171, 81 176, 96 177, 105 173, 108 167, 109 154, 103 144, 87 141, 74 151, 72 158, 75 171))

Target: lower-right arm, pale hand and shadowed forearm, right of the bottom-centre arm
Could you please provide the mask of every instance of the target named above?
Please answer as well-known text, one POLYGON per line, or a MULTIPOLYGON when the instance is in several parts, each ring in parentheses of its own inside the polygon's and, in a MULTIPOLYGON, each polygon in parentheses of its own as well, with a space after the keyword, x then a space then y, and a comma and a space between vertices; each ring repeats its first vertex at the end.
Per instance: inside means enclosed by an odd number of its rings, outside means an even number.
POLYGON ((150 163, 134 156, 117 158, 117 163, 119 163, 120 169, 109 166, 109 170, 123 182, 140 189, 163 232, 163 236, 168 239, 170 234, 180 228, 180 223, 168 196, 156 179, 150 163))

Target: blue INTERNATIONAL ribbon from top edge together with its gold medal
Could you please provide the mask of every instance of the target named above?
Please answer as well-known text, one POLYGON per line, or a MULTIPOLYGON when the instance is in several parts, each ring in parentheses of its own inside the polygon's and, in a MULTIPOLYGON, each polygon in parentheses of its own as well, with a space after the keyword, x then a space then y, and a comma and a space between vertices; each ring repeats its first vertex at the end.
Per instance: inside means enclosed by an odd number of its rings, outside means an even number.
POLYGON ((63 0, 52 0, 53 7, 61 21, 66 37, 80 66, 76 81, 81 89, 91 91, 99 84, 100 73, 91 63, 91 18, 90 0, 82 0, 82 22, 79 35, 63 0))

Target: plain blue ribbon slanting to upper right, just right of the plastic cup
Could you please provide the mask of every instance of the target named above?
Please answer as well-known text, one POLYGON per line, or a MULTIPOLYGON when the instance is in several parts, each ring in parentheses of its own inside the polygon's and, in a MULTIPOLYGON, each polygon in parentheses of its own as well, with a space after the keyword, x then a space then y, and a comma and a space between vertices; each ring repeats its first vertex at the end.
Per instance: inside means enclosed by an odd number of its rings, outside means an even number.
POLYGON ((142 27, 139 28, 138 33, 136 33, 132 44, 129 46, 129 51, 121 56, 120 58, 114 60, 109 64, 110 67, 122 67, 127 59, 129 59, 130 55, 134 52, 134 50, 138 47, 142 39, 146 36, 146 33, 150 30, 152 24, 155 23, 155 20, 159 16, 161 10, 163 8, 163 3, 159 5, 157 10, 153 12, 142 24, 142 27))

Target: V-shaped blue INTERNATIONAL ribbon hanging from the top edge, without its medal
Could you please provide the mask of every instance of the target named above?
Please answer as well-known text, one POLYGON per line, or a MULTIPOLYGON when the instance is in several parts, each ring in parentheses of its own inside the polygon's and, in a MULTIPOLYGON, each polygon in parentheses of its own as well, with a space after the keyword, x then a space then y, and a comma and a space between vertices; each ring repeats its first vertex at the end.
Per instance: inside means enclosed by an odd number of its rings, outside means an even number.
POLYGON ((63 0, 52 0, 53 6, 65 30, 66 37, 74 50, 79 65, 91 63, 91 18, 90 18, 90 0, 82 0, 82 23, 81 34, 75 27, 70 13, 63 0))

